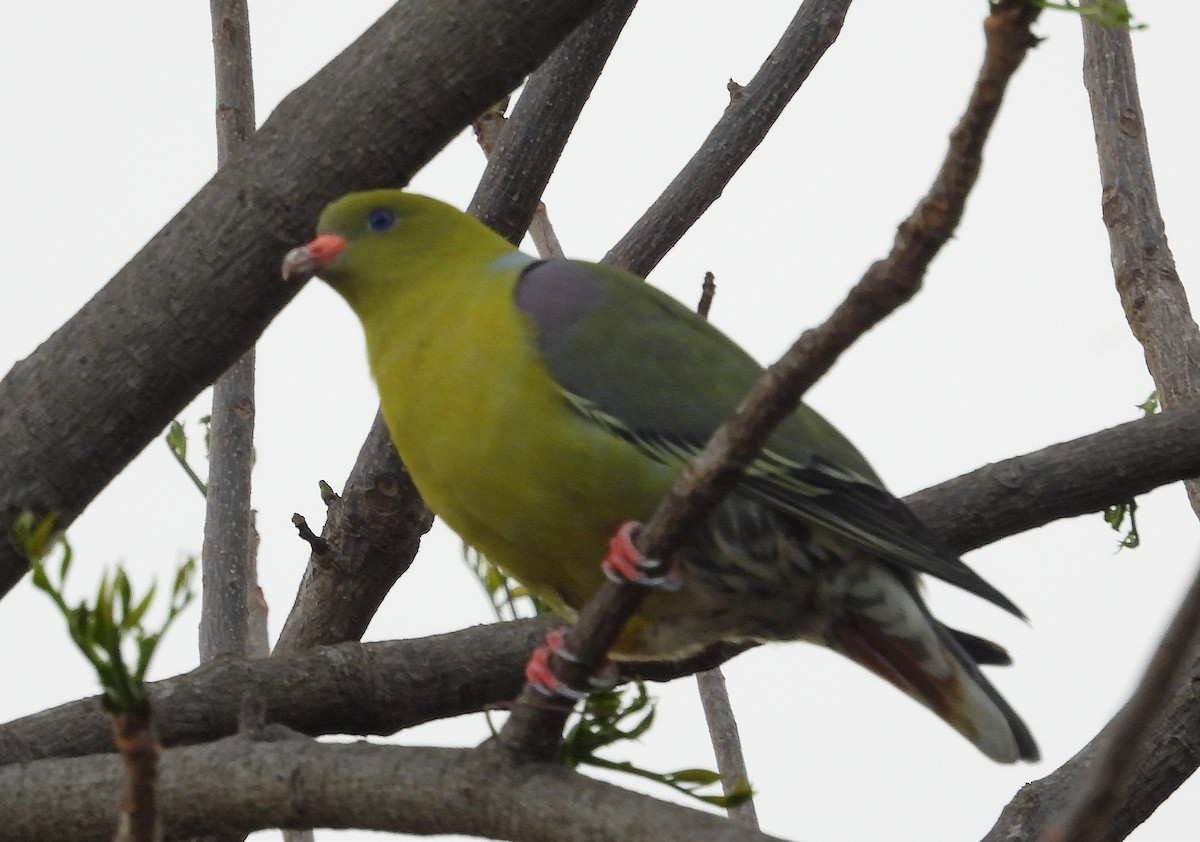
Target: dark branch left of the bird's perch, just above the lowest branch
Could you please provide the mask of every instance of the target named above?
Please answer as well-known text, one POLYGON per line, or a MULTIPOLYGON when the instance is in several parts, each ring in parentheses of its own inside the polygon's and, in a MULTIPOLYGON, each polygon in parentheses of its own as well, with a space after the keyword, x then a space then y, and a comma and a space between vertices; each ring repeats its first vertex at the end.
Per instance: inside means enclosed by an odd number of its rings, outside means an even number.
MULTIPOLYGON (((416 640, 343 643, 269 658, 220 658, 146 686, 173 746, 238 733, 241 699, 302 734, 394 734, 511 699, 521 664, 557 620, 474 626, 416 640)), ((0 726, 0 765, 113 750, 96 697, 0 726)))

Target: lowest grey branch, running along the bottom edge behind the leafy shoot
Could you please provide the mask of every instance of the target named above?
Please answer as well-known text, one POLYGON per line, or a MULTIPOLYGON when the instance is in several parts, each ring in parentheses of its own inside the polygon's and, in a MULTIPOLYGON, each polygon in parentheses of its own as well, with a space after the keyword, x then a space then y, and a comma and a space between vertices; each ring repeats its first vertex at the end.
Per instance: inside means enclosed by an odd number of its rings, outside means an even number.
MULTIPOLYGON (((263 738, 163 753, 167 838, 296 826, 546 842, 775 838, 562 766, 504 763, 491 752, 326 745, 274 729, 263 738)), ((110 756, 0 769, 5 840, 107 842, 113 818, 106 806, 119 775, 110 756)))

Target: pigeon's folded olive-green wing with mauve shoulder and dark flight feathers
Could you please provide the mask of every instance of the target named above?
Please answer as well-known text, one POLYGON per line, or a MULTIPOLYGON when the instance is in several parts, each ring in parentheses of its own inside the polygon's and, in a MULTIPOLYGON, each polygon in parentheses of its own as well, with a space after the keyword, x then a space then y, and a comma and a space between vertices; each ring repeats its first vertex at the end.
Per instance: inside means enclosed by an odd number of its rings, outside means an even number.
MULTIPOLYGON (((611 266, 535 263, 522 272, 514 299, 575 411, 664 464, 682 465, 700 452, 763 372, 712 324, 611 266)), ((1024 617, 809 407, 780 425, 736 493, 1024 617)))

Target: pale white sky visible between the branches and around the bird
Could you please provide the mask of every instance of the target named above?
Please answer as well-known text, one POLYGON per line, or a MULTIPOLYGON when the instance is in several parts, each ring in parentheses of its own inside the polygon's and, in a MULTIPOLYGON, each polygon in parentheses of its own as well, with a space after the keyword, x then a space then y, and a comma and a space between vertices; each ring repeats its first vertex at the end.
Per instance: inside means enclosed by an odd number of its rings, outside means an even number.
MULTIPOLYGON (((252 4, 259 118, 386 5, 252 4)), ((719 118, 726 80, 750 79, 794 7, 643 0, 546 193, 569 254, 599 258, 617 241, 719 118)), ((1135 11, 1150 24, 1134 48, 1159 199, 1195 299, 1200 7, 1142 0, 1135 11)), ((704 271, 715 272, 713 320, 760 360, 775 359, 887 252, 924 193, 978 68, 985 12, 982 0, 859 0, 767 142, 650 279, 694 302, 704 271)), ((5 4, 0 30, 6 371, 210 178, 215 142, 206 2, 5 4)), ((1037 31, 1046 40, 1009 90, 966 218, 925 289, 810 396, 901 495, 1132 420, 1153 389, 1114 290, 1079 22, 1046 12, 1037 31)), ((481 169, 463 137, 413 187, 462 206, 481 169)), ((342 487, 376 397, 358 324, 320 284, 266 330, 258 378, 254 505, 274 636, 307 559, 289 518, 324 521, 317 482, 342 487)), ((205 392, 181 415, 193 433, 208 404, 205 392)), ((72 593, 92 590, 119 559, 140 587, 167 578, 199 552, 203 513, 156 440, 71 528, 72 593)), ((1139 524, 1144 546, 1132 552, 1115 552, 1117 535, 1094 515, 971 553, 1028 625, 929 589, 938 617, 1013 654, 1013 667, 990 675, 1037 735, 1039 764, 992 764, 890 686, 815 646, 764 646, 727 664, 763 829, 812 842, 983 835, 1022 783, 1057 768, 1124 702, 1190 579, 1200 540, 1182 488, 1139 498, 1139 524)), ((194 666, 198 611, 172 632, 154 678, 194 666)), ((488 619, 457 540, 439 527, 367 639, 488 619)), ((0 603, 0 721, 96 692, 61 619, 28 581, 0 603)), ((613 757, 660 770, 712 766, 694 687, 653 686, 658 724, 613 757)), ((473 745, 485 735, 472 716, 398 739, 473 745)), ((1130 838, 1198 838, 1198 799, 1193 781, 1130 838)))

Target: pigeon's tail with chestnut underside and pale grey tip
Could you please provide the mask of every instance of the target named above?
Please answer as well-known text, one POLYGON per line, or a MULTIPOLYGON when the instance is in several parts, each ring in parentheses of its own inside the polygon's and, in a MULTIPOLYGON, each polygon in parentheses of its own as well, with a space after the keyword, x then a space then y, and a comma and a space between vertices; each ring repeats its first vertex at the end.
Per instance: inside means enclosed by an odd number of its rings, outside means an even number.
POLYGON ((1004 650, 938 623, 881 565, 856 573, 845 611, 830 624, 830 648, 908 693, 994 760, 1037 760, 1030 729, 979 672, 980 662, 1006 663, 1004 650))

